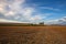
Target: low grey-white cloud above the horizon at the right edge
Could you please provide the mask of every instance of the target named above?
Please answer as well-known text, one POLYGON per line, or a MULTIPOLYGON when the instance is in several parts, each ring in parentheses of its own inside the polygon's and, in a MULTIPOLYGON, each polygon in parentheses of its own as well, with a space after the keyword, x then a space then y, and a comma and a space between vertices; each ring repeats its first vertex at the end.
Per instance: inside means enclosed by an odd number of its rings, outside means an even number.
POLYGON ((62 25, 65 25, 66 24, 66 16, 63 16, 63 18, 57 19, 57 20, 47 21, 47 24, 62 24, 62 25))

